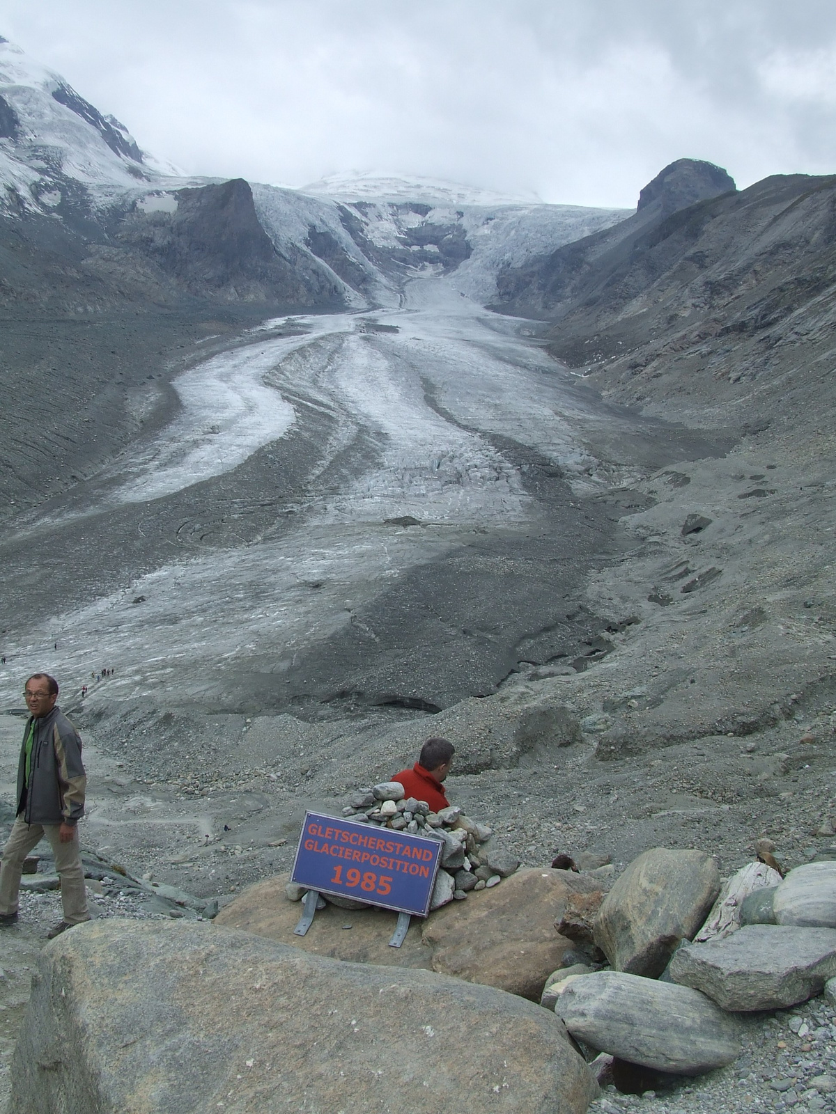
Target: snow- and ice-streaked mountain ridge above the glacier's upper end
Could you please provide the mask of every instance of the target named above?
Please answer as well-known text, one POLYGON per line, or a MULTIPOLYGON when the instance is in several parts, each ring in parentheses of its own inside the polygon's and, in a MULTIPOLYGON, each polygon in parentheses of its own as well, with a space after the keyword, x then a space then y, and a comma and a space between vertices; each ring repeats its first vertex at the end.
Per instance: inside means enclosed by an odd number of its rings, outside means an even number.
MULTIPOLYGON (((223 179, 165 173, 120 121, 8 40, 0 43, 0 219, 11 221, 36 252, 45 241, 45 226, 29 219, 28 227, 21 227, 26 218, 57 217, 70 236, 80 237, 71 255, 85 243, 96 245, 80 277, 84 282, 87 272, 96 275, 89 294, 99 305, 103 299, 104 304, 118 301, 119 284, 111 282, 116 274, 130 286, 132 299, 148 304, 171 305, 179 290, 189 301, 234 304, 243 299, 298 310, 397 305, 409 277, 448 272, 474 254, 478 261, 479 244, 470 242, 484 242, 486 229, 494 231, 488 225, 498 229, 527 222, 528 240, 521 241, 526 244, 542 226, 545 238, 541 235, 531 247, 543 250, 623 216, 619 211, 543 206, 420 177, 410 182, 353 173, 301 190, 249 183, 255 221, 276 257, 262 268, 257 283, 242 287, 240 282, 217 281, 217 271, 212 282, 204 281, 205 226, 189 273, 186 224, 176 215, 181 202, 192 208, 197 204, 189 190, 206 189, 211 207, 223 179), (548 218, 541 221, 539 213, 548 218), (169 248, 178 245, 176 266, 166 263, 163 241, 169 248), (114 254, 118 252, 124 253, 121 264, 114 254), (127 275, 132 265, 133 280, 127 275), (293 267, 301 280, 290 274, 293 267)), ((234 227, 234 222, 222 219, 212 248, 216 260, 229 254, 234 227)), ((243 235, 244 226, 237 228, 243 235)), ((236 252, 243 260, 245 240, 236 252)), ((507 248, 504 257, 519 262, 507 248)), ((496 265, 487 252, 470 293, 489 295, 496 265)), ((3 297, 8 301, 12 292, 0 290, 0 302, 3 297)))

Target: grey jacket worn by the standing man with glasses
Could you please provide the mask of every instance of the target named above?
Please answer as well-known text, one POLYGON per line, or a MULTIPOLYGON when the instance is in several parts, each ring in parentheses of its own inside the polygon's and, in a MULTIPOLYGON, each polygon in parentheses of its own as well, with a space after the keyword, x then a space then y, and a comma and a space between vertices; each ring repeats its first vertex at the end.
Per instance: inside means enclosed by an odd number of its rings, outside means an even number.
POLYGON ((18 815, 28 824, 75 824, 85 811, 87 778, 78 732, 56 705, 48 715, 29 716, 18 763, 18 815), (26 741, 35 723, 31 773, 26 785, 26 741))

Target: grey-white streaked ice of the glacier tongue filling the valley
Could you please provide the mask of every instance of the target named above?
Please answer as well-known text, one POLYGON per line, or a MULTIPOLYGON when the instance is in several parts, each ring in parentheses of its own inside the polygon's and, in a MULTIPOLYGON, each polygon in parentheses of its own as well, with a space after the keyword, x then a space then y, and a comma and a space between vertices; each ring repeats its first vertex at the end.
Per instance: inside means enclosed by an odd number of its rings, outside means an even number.
POLYGON ((185 515, 195 483, 281 444, 304 409, 314 416, 305 420, 314 421, 309 441, 319 456, 292 518, 276 519, 293 525, 239 548, 187 556, 162 548, 154 567, 123 589, 9 631, 0 698, 17 703, 20 676, 36 668, 78 690, 89 683, 91 662, 117 666, 111 696, 175 693, 184 665, 200 696, 231 657, 280 675, 300 649, 356 622, 358 608, 405 571, 444 557, 474 529, 514 529, 541 514, 494 434, 589 481, 592 457, 575 421, 582 403, 524 335, 524 323, 444 283, 416 280, 401 310, 293 324, 305 334, 254 331, 182 375, 182 409, 123 455, 113 466, 118 475, 101 478, 98 506, 85 509, 90 529, 99 529, 108 508, 182 491, 185 515), (352 457, 363 439, 373 452, 352 457), (347 478, 319 482, 338 456, 354 461, 340 472, 347 478), (401 516, 424 526, 383 525, 401 516), (132 605, 137 596, 146 597, 140 607, 132 605))

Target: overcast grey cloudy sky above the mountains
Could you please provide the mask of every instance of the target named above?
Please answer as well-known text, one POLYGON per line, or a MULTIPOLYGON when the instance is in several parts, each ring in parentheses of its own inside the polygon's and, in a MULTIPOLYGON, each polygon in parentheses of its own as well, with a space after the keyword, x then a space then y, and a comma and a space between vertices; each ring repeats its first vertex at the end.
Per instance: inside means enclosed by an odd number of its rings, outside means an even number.
POLYGON ((0 35, 195 174, 629 206, 682 156, 836 172, 833 0, 2 0, 0 35))

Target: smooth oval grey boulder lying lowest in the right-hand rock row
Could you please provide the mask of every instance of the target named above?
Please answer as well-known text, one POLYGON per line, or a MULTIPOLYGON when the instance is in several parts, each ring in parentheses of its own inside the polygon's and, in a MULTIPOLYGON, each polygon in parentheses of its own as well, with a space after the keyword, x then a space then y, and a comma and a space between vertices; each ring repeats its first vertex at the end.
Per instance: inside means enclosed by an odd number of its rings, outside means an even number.
POLYGON ((740 1055, 733 1019, 673 983, 621 971, 581 975, 554 1008, 579 1040, 659 1072, 698 1075, 740 1055))

